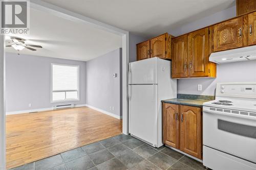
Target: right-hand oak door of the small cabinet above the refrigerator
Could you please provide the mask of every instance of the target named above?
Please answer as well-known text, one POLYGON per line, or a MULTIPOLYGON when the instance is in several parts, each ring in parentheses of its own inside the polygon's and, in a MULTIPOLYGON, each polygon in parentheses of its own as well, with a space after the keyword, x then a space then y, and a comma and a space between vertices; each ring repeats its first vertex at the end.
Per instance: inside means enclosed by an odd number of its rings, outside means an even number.
POLYGON ((162 59, 165 58, 165 56, 167 54, 167 52, 165 50, 165 38, 166 38, 166 34, 150 40, 150 50, 151 50, 150 57, 151 58, 152 57, 159 57, 162 59))

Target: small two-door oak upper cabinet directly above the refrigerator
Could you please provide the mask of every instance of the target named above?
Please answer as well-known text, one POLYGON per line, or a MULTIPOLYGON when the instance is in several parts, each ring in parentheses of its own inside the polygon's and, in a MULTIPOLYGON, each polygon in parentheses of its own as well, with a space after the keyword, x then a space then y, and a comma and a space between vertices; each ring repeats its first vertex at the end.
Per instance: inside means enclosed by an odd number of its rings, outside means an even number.
POLYGON ((172 36, 165 33, 158 37, 137 44, 137 60, 143 60, 152 57, 161 59, 171 58, 171 38, 172 36))

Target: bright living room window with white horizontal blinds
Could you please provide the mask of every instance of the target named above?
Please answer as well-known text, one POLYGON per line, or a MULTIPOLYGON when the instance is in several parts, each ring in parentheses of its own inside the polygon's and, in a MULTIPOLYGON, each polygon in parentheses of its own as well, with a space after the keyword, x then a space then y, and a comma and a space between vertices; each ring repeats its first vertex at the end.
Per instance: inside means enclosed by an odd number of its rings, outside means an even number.
POLYGON ((79 65, 51 64, 51 102, 79 100, 79 65))

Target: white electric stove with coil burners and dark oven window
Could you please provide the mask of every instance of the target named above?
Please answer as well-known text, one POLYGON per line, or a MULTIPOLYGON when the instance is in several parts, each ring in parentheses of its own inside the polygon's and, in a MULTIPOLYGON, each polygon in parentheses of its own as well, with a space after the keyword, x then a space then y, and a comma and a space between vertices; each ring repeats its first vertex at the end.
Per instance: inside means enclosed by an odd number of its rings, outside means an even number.
POLYGON ((216 100, 203 104, 203 164, 256 169, 256 82, 218 83, 216 100))

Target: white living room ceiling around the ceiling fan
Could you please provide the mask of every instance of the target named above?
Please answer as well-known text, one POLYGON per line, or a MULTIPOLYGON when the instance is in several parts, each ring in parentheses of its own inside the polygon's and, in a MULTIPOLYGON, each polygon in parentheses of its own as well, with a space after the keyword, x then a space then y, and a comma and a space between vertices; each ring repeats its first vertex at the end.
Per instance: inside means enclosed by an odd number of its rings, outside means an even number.
MULTIPOLYGON (((18 35, 15 35, 18 36, 18 35)), ((30 34, 20 35, 28 44, 41 45, 37 51, 26 48, 20 54, 88 61, 119 47, 122 38, 92 26, 30 9, 30 34)), ((6 38, 6 45, 10 39, 6 38)), ((17 53, 13 47, 6 52, 17 53)))

